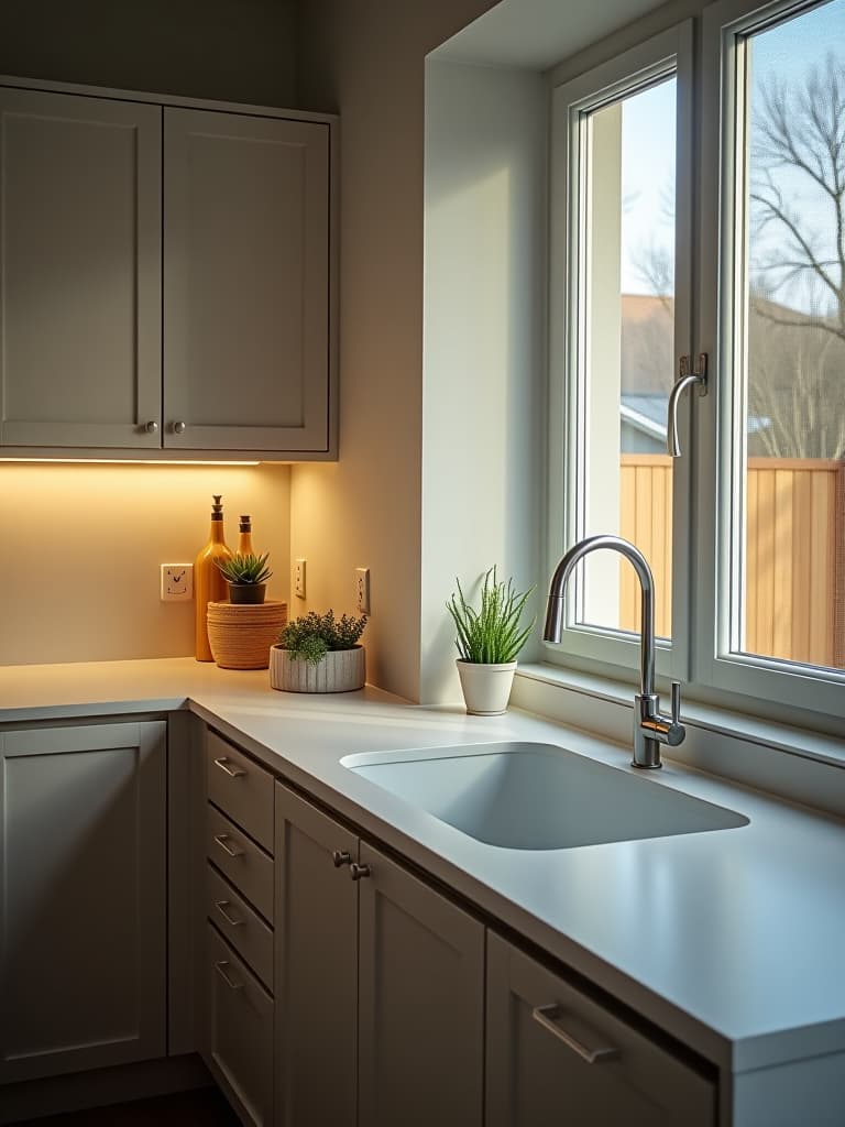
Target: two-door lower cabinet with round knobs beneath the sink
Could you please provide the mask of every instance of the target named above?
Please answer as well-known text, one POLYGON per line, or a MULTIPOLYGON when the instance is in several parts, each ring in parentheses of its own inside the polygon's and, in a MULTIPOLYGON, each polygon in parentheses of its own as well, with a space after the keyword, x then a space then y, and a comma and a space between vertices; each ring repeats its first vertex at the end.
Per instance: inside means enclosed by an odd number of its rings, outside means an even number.
POLYGON ((284 1127, 481 1127, 484 928, 276 787, 284 1127))

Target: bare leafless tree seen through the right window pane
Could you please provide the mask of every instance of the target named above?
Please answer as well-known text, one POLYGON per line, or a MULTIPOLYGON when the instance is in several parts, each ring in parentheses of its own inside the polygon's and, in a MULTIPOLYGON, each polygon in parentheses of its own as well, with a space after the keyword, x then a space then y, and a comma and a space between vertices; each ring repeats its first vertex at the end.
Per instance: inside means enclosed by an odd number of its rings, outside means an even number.
POLYGON ((757 88, 749 450, 845 458, 845 60, 757 88))

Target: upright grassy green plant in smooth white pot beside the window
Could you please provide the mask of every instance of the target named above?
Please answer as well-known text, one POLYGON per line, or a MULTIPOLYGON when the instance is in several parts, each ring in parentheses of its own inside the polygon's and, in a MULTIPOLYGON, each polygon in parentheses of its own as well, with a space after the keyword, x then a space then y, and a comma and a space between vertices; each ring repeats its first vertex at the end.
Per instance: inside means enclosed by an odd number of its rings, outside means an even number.
POLYGON ((534 587, 519 593, 513 579, 500 583, 491 567, 482 580, 481 606, 475 610, 466 602, 460 579, 455 583, 457 594, 453 593, 446 610, 457 630, 457 673, 466 711, 472 716, 500 716, 507 711, 516 655, 536 621, 534 618, 526 627, 521 625, 534 587))

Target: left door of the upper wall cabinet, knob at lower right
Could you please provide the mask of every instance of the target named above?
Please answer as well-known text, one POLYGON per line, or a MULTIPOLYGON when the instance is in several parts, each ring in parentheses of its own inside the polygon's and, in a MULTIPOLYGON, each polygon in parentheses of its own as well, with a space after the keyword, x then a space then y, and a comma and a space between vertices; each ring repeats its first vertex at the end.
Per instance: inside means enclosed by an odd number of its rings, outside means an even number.
POLYGON ((0 443, 160 446, 161 109, 0 88, 0 443))

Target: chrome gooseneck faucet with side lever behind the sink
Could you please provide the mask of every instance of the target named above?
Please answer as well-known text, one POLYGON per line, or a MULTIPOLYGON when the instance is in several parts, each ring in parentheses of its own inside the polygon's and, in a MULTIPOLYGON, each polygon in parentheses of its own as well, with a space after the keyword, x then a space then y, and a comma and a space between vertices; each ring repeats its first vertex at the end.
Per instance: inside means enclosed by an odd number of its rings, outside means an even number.
POLYGON ((639 548, 621 536, 588 536, 570 548, 554 569, 545 614, 546 641, 560 641, 563 627, 564 591, 576 564, 589 552, 610 548, 633 565, 642 592, 640 636, 640 691, 634 695, 633 760, 635 767, 660 767, 660 744, 677 747, 686 729, 681 724, 681 682, 671 683, 671 716, 660 711, 660 698, 655 692, 655 578, 639 548))

